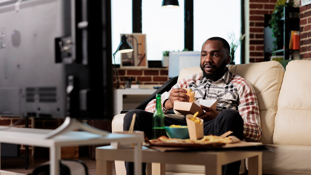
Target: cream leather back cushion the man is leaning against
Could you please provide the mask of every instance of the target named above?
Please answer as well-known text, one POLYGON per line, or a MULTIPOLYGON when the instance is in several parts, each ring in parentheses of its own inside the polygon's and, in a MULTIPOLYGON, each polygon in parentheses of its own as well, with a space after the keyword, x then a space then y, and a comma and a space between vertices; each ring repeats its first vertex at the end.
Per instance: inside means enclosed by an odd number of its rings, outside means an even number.
MULTIPOLYGON (((261 118, 263 144, 272 144, 274 118, 277 111, 277 100, 284 75, 283 66, 277 61, 227 66, 230 72, 245 78, 255 89, 259 115, 261 118)), ((188 75, 201 72, 200 67, 185 68, 180 71, 178 81, 188 75)))

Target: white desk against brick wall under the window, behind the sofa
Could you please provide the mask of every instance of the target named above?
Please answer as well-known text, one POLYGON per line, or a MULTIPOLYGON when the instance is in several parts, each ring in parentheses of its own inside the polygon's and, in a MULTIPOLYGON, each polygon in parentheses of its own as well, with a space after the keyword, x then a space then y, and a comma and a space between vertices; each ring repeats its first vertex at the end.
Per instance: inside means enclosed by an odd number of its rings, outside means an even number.
POLYGON ((156 89, 115 89, 114 90, 114 116, 123 110, 123 95, 151 95, 156 89))

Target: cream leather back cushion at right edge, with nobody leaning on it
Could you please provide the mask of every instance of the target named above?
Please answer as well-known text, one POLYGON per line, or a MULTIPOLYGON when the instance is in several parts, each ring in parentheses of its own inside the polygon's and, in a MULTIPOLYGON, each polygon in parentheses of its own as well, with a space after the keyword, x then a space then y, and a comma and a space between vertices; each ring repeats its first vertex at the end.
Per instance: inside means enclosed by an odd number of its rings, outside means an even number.
POLYGON ((275 118, 273 144, 311 145, 311 60, 286 66, 275 118))

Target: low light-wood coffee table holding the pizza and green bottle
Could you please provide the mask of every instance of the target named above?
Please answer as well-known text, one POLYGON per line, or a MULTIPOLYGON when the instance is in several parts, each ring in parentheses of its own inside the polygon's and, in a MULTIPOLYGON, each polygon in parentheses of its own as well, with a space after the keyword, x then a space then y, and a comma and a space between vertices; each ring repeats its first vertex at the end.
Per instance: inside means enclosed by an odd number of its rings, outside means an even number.
MULTIPOLYGON (((133 149, 96 148, 96 167, 107 167, 114 160, 133 161, 133 149)), ((142 162, 152 162, 152 175, 165 175, 165 163, 197 164, 205 166, 205 174, 221 175, 222 165, 248 158, 248 175, 262 174, 262 151, 168 151, 159 152, 142 147, 142 162), (198 161, 198 158, 200 161, 198 161)), ((111 170, 96 168, 97 175, 111 175, 111 170)))

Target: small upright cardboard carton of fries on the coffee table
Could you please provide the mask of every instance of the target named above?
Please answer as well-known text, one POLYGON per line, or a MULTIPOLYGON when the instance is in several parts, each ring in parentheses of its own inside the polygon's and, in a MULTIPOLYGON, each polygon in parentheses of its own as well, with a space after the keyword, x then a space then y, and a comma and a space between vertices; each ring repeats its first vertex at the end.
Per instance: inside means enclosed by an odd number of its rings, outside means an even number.
POLYGON ((202 139, 204 137, 203 120, 200 119, 201 123, 196 123, 192 121, 190 118, 193 118, 192 114, 188 114, 186 116, 190 139, 192 140, 202 139))

